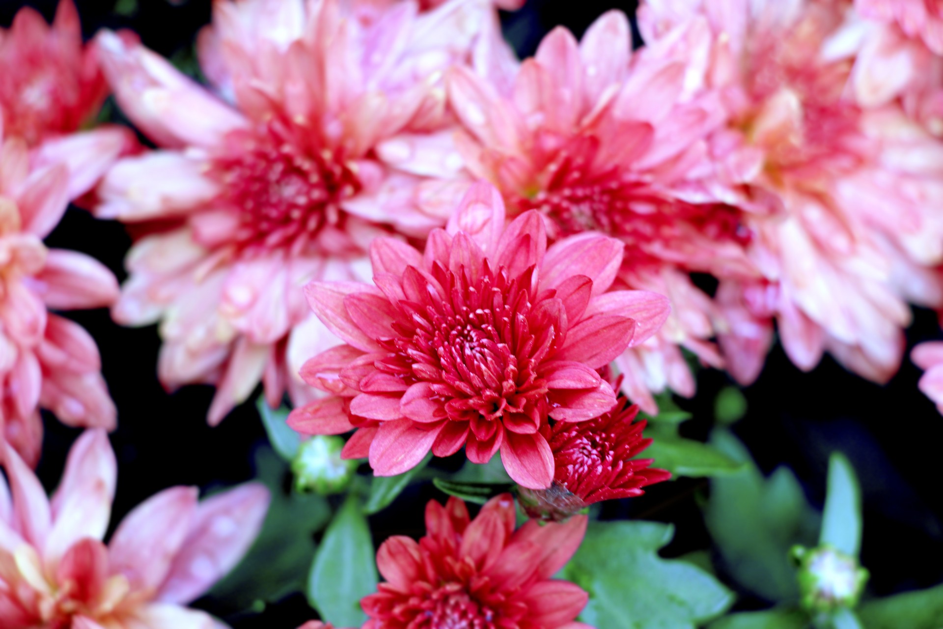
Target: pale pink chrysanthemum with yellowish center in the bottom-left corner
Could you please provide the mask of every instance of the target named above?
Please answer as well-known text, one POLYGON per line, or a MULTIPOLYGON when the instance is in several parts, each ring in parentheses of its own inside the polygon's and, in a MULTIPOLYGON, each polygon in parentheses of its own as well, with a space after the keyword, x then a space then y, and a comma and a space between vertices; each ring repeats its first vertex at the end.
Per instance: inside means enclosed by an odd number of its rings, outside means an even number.
POLYGON ((196 488, 170 488, 128 514, 106 546, 117 469, 104 430, 75 441, 51 502, 8 446, 4 468, 0 625, 8 629, 215 629, 184 605, 239 562, 269 502, 258 485, 201 503, 196 488))

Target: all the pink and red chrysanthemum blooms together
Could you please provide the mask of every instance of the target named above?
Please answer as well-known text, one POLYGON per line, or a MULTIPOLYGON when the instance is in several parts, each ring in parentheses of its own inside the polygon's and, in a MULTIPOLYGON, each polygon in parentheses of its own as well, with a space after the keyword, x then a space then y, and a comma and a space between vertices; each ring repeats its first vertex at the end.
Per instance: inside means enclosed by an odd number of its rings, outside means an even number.
MULTIPOLYGON (((211 627, 180 605, 267 502, 170 489, 106 547, 116 411, 50 310, 157 323, 160 381, 214 385, 212 424, 261 385, 376 475, 500 453, 528 511, 566 520, 431 503, 425 538, 380 548, 368 629, 584 627, 586 593, 550 578, 571 516, 668 478, 634 420, 694 393, 685 352, 749 384, 775 330, 802 370, 898 371, 910 305, 943 312, 943 5, 650 0, 635 52, 610 11, 519 61, 496 5, 520 4, 219 0, 208 85, 133 34, 83 43, 71 0, 0 31, 4 626, 211 627), (81 130, 108 91, 157 148, 81 130), (134 225, 120 289, 43 244, 70 202, 134 225), (51 505, 41 408, 94 428, 51 505)), ((941 348, 913 360, 943 412, 941 348)))

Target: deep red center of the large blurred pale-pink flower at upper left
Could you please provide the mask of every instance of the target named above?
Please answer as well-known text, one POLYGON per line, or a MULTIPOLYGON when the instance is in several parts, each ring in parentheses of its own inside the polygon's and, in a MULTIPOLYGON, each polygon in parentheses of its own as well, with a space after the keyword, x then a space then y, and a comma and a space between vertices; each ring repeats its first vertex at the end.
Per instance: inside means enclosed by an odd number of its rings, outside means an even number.
POLYGON ((223 184, 223 204, 238 214, 236 240, 243 248, 300 251, 324 227, 343 221, 340 203, 360 190, 349 163, 299 144, 275 124, 235 131, 226 142, 210 172, 223 184))

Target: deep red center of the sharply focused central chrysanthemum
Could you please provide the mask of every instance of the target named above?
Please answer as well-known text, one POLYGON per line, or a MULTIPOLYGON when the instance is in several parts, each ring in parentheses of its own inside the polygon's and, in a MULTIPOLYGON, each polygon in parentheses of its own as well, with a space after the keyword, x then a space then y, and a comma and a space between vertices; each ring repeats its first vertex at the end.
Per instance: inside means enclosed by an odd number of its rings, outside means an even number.
POLYGON ((546 417, 548 389, 537 368, 555 348, 559 323, 548 305, 532 303, 532 273, 510 278, 504 268, 492 272, 486 262, 472 279, 464 268, 452 273, 437 263, 436 287, 407 269, 409 301, 400 307, 408 323, 394 323, 402 336, 381 341, 393 356, 377 368, 432 383, 455 421, 522 415, 539 423, 546 417))

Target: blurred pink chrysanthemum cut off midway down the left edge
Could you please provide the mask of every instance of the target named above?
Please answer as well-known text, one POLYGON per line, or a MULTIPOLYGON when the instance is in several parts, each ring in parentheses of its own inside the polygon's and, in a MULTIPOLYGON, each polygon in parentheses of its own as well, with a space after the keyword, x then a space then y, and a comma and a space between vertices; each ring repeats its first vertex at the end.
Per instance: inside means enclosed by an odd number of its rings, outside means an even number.
POLYGON ((91 257, 42 243, 69 199, 107 167, 97 142, 72 136, 30 154, 24 140, 0 131, 0 436, 30 465, 40 457, 40 407, 70 425, 115 425, 95 342, 47 309, 110 306, 118 283, 91 257))

